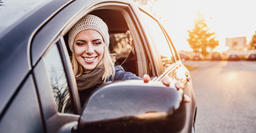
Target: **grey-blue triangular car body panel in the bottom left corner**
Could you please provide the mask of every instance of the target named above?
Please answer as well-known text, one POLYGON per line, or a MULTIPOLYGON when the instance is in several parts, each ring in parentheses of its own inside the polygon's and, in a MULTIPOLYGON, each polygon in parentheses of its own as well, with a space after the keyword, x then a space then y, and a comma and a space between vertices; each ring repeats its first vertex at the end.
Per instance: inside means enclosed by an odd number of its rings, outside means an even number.
POLYGON ((12 102, 1 116, 0 132, 44 132, 40 104, 35 85, 29 75, 13 96, 12 102))

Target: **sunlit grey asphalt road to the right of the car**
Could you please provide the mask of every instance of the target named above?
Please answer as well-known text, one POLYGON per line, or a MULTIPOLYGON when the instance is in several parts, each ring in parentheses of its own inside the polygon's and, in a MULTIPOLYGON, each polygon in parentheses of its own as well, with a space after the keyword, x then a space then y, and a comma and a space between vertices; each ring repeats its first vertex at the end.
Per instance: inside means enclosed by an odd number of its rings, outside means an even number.
POLYGON ((185 61, 198 106, 195 129, 256 132, 256 61, 185 61))

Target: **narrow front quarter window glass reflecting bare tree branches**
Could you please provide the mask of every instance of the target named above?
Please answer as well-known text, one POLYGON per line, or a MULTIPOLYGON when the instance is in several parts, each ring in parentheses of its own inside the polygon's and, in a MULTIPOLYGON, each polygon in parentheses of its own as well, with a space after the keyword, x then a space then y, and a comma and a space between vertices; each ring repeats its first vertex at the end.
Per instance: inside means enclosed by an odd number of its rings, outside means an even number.
POLYGON ((45 67, 51 81, 52 93, 54 95, 56 110, 59 113, 73 113, 68 90, 67 77, 63 68, 57 45, 44 56, 45 67))

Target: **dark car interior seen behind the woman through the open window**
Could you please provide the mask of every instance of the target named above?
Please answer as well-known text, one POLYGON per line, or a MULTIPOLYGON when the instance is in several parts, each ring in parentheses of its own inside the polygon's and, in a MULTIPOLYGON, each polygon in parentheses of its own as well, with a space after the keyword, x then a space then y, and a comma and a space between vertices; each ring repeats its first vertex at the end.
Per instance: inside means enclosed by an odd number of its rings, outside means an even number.
MULTIPOLYGON (((109 51, 116 56, 115 65, 121 65, 125 71, 138 75, 136 51, 131 36, 131 31, 121 12, 117 10, 100 9, 89 14, 96 15, 108 25, 110 43, 109 51)), ((68 33, 64 36, 68 48, 68 33)), ((72 52, 68 49, 69 55, 72 52)))

